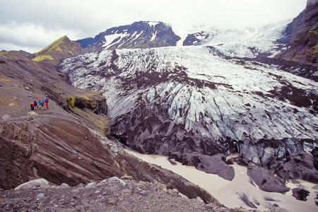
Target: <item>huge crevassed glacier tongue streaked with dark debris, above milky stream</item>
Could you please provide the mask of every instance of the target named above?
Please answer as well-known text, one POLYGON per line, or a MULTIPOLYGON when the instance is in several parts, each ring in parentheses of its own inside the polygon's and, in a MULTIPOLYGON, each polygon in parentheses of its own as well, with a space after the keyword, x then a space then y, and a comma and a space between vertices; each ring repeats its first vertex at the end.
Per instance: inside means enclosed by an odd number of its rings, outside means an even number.
POLYGON ((238 152, 284 179, 318 182, 315 81, 204 46, 105 50, 59 69, 104 93, 112 135, 143 153, 209 172, 211 155, 238 152))

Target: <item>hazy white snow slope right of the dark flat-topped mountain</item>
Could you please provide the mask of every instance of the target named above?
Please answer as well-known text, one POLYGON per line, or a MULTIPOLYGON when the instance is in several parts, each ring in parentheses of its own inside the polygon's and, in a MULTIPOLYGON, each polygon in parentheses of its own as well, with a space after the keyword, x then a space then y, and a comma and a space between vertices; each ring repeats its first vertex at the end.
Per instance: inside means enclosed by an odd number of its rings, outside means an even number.
MULTIPOLYGON (((260 28, 233 30, 206 29, 182 37, 182 45, 205 45, 216 47, 230 57, 274 56, 288 45, 282 42, 290 20, 265 25, 260 28)), ((202 30, 202 29, 199 29, 202 30)), ((184 33, 182 33, 184 35, 184 33)))

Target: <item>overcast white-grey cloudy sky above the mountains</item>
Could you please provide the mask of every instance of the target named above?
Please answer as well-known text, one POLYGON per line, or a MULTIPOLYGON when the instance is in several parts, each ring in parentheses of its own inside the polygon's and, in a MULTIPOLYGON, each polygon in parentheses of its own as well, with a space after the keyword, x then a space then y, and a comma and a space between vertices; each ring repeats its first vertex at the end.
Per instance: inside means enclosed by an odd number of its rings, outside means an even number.
POLYGON ((37 52, 59 37, 94 37, 118 25, 160 20, 172 30, 258 27, 292 19, 306 0, 0 0, 0 50, 37 52))

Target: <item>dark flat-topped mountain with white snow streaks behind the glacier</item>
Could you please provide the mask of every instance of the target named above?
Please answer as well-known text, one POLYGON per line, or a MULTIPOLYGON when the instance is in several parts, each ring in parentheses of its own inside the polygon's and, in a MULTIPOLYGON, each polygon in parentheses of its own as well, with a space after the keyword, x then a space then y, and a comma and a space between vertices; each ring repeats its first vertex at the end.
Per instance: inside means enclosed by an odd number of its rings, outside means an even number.
POLYGON ((139 21, 114 27, 93 37, 76 40, 87 52, 175 46, 180 37, 162 22, 139 21))

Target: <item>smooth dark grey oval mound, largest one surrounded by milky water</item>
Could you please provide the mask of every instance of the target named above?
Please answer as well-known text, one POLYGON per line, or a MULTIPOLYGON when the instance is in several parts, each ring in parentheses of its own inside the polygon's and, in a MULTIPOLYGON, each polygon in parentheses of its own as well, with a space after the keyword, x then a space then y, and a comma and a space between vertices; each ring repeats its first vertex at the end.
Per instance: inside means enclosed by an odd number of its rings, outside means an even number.
POLYGON ((257 186, 265 192, 288 192, 290 189, 285 187, 284 182, 278 177, 274 177, 269 170, 262 167, 247 167, 247 175, 251 177, 257 186))

